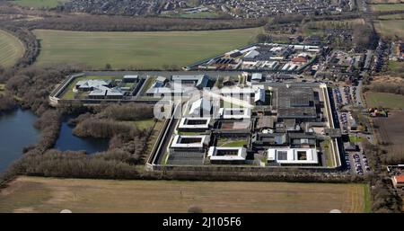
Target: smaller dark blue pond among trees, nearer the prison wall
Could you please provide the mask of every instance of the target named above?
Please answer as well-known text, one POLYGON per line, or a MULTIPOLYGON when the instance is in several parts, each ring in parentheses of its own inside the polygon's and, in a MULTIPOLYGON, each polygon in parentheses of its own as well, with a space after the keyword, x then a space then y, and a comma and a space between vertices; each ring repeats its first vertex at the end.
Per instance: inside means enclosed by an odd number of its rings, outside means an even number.
POLYGON ((71 117, 64 118, 60 128, 59 138, 55 148, 61 151, 85 151, 87 154, 102 152, 108 149, 109 139, 107 138, 79 138, 73 135, 73 127, 67 121, 71 117))

